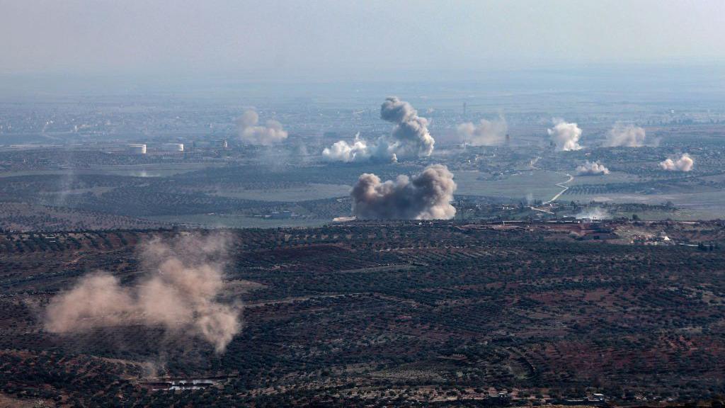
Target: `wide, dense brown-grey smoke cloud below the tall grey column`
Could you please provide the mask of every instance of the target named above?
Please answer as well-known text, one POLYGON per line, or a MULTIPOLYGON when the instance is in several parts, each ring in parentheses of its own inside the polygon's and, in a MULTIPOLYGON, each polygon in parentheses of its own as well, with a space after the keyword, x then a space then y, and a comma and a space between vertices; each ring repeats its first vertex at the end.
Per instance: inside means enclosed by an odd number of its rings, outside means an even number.
POLYGON ((365 173, 352 187, 352 213, 359 219, 452 219, 456 184, 446 166, 435 164, 421 174, 381 182, 365 173))

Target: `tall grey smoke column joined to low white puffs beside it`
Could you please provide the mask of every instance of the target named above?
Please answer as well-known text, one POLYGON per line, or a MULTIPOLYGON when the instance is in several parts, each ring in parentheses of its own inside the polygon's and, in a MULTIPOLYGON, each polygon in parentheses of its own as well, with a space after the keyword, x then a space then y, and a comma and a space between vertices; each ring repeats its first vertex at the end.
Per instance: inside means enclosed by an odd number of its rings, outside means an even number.
POLYGON ((355 136, 352 144, 341 140, 323 150, 323 158, 331 161, 385 160, 429 156, 435 139, 428 132, 428 120, 398 97, 388 97, 380 107, 380 118, 395 123, 391 134, 368 142, 355 136))

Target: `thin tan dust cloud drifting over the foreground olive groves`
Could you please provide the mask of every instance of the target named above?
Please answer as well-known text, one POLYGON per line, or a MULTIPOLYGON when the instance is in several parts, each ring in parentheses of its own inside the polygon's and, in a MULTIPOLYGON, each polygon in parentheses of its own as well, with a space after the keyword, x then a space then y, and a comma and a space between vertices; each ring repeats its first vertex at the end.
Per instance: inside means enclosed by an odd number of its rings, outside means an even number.
POLYGON ((225 239, 189 235, 152 240, 141 250, 149 273, 124 286, 107 272, 82 277, 46 309, 49 332, 88 332, 96 327, 162 327, 171 335, 202 338, 222 353, 239 330, 239 305, 218 300, 223 289, 225 239))

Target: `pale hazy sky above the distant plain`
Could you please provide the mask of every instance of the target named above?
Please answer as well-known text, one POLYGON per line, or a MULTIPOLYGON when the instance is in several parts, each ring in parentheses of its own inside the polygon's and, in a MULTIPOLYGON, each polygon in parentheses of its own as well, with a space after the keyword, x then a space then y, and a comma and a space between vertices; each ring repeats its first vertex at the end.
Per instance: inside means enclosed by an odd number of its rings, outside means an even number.
POLYGON ((723 0, 0 0, 6 74, 319 79, 722 62, 723 38, 723 0))

